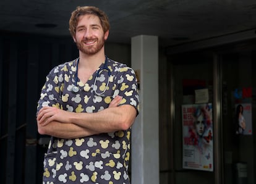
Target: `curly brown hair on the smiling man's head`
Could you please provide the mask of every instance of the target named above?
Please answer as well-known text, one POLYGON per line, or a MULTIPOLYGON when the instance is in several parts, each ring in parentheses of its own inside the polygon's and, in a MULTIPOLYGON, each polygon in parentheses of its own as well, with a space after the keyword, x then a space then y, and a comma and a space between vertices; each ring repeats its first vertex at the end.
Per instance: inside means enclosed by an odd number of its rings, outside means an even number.
POLYGON ((108 16, 105 14, 105 12, 103 12, 103 10, 100 10, 98 7, 94 6, 78 6, 77 9, 72 12, 69 19, 69 31, 71 36, 75 36, 75 29, 77 27, 79 16, 87 14, 96 15, 99 17, 104 33, 109 30, 110 26, 108 16))

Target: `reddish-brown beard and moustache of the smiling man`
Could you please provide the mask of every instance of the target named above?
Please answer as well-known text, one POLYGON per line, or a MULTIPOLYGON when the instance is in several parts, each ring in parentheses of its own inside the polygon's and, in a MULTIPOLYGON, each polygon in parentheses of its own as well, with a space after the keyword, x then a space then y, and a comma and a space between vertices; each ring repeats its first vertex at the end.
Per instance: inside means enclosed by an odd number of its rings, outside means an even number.
MULTIPOLYGON (((83 43, 83 42, 87 41, 87 40, 82 40, 79 43, 77 43, 77 48, 79 49, 79 51, 83 52, 84 54, 88 54, 88 55, 96 54, 98 51, 100 51, 101 48, 103 48, 103 46, 105 44, 104 37, 102 37, 100 40, 98 40, 98 42, 96 42, 96 45, 94 44, 93 46, 85 46, 85 43, 83 43)), ((93 40, 93 39, 91 39, 91 40, 93 40)))

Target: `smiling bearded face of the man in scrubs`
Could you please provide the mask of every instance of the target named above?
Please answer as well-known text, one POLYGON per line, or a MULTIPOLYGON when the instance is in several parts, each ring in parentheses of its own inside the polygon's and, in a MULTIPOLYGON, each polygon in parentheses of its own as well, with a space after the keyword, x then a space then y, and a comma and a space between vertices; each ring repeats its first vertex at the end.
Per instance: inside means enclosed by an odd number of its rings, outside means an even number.
POLYGON ((100 19, 96 15, 81 15, 77 23, 74 41, 84 54, 96 54, 103 49, 108 31, 104 34, 100 19))

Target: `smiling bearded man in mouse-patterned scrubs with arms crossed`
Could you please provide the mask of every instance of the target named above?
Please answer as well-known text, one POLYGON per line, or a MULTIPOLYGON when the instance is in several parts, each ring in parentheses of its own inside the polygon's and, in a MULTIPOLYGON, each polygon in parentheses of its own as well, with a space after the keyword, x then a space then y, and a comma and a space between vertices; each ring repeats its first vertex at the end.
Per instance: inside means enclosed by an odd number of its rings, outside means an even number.
POLYGON ((105 56, 105 12, 77 7, 69 30, 79 58, 49 72, 38 101, 38 132, 51 136, 43 183, 129 183, 134 70, 105 56))

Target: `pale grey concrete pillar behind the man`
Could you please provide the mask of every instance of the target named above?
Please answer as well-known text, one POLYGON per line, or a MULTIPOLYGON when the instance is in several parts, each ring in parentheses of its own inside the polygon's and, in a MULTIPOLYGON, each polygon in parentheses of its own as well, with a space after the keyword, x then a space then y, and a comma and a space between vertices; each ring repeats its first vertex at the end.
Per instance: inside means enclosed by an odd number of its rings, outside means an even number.
POLYGON ((158 184, 158 37, 135 36, 131 50, 140 86, 140 114, 132 126, 131 183, 158 184))

